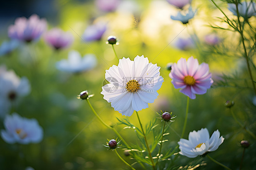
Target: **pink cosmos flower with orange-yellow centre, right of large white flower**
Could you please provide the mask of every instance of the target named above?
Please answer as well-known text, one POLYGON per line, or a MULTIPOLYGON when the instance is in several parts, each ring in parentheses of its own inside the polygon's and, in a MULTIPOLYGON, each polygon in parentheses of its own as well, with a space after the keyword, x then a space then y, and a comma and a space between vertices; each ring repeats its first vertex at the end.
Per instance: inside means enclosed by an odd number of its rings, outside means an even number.
POLYGON ((195 94, 205 94, 210 88, 213 80, 209 73, 209 65, 206 63, 198 64, 198 60, 191 56, 188 61, 181 58, 172 65, 172 70, 169 74, 172 79, 172 84, 175 89, 179 90, 190 99, 195 99, 195 94))

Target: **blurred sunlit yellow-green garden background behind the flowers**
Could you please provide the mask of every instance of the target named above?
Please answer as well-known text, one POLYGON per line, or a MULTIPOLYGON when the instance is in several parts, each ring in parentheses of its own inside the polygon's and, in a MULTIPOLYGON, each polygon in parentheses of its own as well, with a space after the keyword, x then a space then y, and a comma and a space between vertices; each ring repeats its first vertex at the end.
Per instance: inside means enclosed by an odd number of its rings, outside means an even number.
MULTIPOLYGON (((241 54, 239 35, 211 27, 228 27, 217 18, 223 17, 220 11, 208 0, 192 0, 192 9, 196 10, 196 14, 188 24, 183 24, 171 20, 170 16, 176 15, 179 9, 166 0, 109 0, 108 8, 108 5, 102 5, 103 1, 9 0, 1 3, 0 43, 10 40, 8 28, 15 23, 16 18, 29 18, 33 14, 46 19, 47 30, 60 28, 68 31, 73 41, 67 48, 55 50, 46 42, 46 33, 43 33, 38 40, 21 42, 10 53, 0 56, 1 66, 14 70, 18 77, 25 76, 31 85, 30 93, 13 102, 7 114, 16 112, 22 117, 35 118, 44 132, 43 139, 36 144, 8 144, 0 139, 0 169, 128 169, 112 150, 103 146, 107 139, 116 138, 116 134, 97 120, 85 100, 77 99, 83 90, 94 94, 90 101, 100 117, 108 125, 115 125, 128 143, 135 145, 139 142, 133 129, 123 129, 125 126, 117 125, 117 118, 125 116, 114 111, 100 94, 105 70, 118 65, 112 46, 106 44, 110 35, 116 36, 119 41, 119 45, 114 45, 119 59, 129 57, 133 60, 137 55, 144 55, 149 62, 161 67, 160 74, 164 83, 158 91, 159 96, 147 109, 139 111, 139 115, 143 125, 155 119, 158 116, 156 112, 160 110, 173 112, 177 116, 168 127, 170 134, 166 137, 168 141, 164 142, 163 150, 177 145, 186 109, 186 96, 174 89, 169 78, 168 63, 175 63, 181 57, 188 59, 194 56, 199 63, 209 64, 215 83, 206 94, 190 100, 184 138, 188 139, 189 132, 193 130, 206 127, 211 135, 218 129, 225 140, 211 155, 232 169, 240 166, 243 152, 241 140, 249 140, 251 146, 250 150, 246 150, 243 168, 256 168, 255 140, 236 124, 230 110, 224 106, 226 100, 234 100, 232 109, 236 118, 255 134, 256 102, 253 103, 252 90, 243 88, 246 85, 251 87, 251 82, 241 54), (86 40, 84 34, 90 25, 105 26, 98 40, 86 40), (78 51, 81 56, 95 56, 95 66, 81 73, 57 69, 56 63, 67 60, 72 50, 78 51), (223 74, 228 76, 228 81, 235 80, 237 85, 221 85, 219 82, 224 80, 223 74)), ((235 18, 227 5, 217 2, 230 18, 235 18)), ((256 26, 255 17, 251 17, 250 22, 256 26)), ((89 35, 93 34, 91 31, 89 35)), ((251 56, 255 60, 255 53, 251 56)), ((253 73, 256 79, 255 68, 253 73)), ((138 125, 135 114, 128 118, 134 125, 138 125)), ((161 120, 157 121, 160 124, 161 120)), ((0 129, 5 129, 3 122, 4 116, 1 116, 0 129)), ((148 136, 148 139, 152 137, 148 136)), ((135 162, 125 156, 122 149, 118 149, 120 155, 130 164, 135 162)), ((199 156, 192 159, 180 155, 176 162, 166 161, 165 164, 167 167, 169 164, 185 166, 192 160, 207 164, 198 169, 220 168, 209 159, 199 156)), ((134 167, 138 170, 141 168, 137 164, 134 167)))

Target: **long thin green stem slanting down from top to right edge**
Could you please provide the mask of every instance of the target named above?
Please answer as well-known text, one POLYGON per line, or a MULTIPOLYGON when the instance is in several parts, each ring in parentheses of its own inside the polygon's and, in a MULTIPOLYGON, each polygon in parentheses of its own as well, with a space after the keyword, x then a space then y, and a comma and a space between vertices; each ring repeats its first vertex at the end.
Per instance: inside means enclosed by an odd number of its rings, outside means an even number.
POLYGON ((253 90, 254 90, 254 93, 256 95, 256 88, 255 88, 255 84, 254 84, 252 74, 251 74, 249 59, 248 59, 248 55, 247 55, 247 51, 246 51, 245 39, 244 39, 244 35, 243 35, 243 30, 242 30, 242 27, 241 27, 241 22, 240 22, 240 19, 239 19, 240 15, 239 15, 239 11, 238 11, 238 2, 237 2, 237 0, 236 0, 235 4, 236 4, 236 14, 237 14, 238 25, 239 25, 239 28, 240 28, 240 30, 238 32, 241 35, 241 41, 242 41, 243 48, 244 48, 244 51, 245 51, 246 65, 247 65, 247 69, 248 69, 248 72, 249 72, 249 75, 250 75, 250 78, 251 78, 253 90))

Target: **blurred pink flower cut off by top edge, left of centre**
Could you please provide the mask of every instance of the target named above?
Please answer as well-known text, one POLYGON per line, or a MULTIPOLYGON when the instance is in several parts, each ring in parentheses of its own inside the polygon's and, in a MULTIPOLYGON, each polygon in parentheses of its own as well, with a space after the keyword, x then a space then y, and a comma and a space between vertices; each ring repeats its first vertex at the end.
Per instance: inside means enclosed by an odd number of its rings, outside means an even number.
POLYGON ((117 9, 120 0, 96 0, 95 4, 99 10, 111 12, 117 9))

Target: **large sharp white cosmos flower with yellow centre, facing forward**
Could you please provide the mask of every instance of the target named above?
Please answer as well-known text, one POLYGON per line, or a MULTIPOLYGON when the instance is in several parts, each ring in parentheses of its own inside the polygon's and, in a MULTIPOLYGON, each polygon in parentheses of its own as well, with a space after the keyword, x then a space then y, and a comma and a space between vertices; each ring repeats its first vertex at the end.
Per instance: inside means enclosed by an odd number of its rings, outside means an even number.
POLYGON ((118 66, 106 70, 105 78, 110 84, 102 87, 103 99, 122 115, 131 116, 134 110, 148 108, 148 103, 157 98, 157 90, 164 81, 159 70, 160 67, 149 63, 143 55, 137 55, 134 61, 120 59, 118 66))

